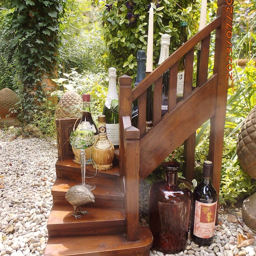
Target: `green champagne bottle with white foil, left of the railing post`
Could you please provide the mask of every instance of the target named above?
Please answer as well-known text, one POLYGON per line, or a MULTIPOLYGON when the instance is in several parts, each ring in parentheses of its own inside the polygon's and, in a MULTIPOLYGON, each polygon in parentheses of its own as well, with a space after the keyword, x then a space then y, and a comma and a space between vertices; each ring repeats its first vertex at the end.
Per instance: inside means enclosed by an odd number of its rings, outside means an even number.
POLYGON ((118 94, 116 89, 116 68, 108 69, 108 95, 103 108, 103 115, 106 116, 106 128, 108 140, 115 148, 119 147, 119 115, 118 115, 118 94))

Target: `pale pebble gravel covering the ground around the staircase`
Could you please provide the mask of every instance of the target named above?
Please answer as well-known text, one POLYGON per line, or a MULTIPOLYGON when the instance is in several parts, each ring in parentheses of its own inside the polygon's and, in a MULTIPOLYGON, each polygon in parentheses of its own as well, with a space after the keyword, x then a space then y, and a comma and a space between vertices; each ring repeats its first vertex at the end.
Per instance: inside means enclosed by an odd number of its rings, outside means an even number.
MULTIPOLYGON (((0 130, 0 256, 44 255, 47 219, 52 207, 57 143, 54 139, 16 137, 0 130)), ((140 222, 148 226, 148 190, 140 191, 140 222)), ((199 247, 188 239, 186 250, 166 256, 255 256, 256 242, 242 247, 242 235, 256 238, 241 218, 241 208, 221 207, 214 241, 199 247)), ((250 240, 252 241, 252 240, 250 240)), ((165 254, 151 250, 150 256, 165 254)))

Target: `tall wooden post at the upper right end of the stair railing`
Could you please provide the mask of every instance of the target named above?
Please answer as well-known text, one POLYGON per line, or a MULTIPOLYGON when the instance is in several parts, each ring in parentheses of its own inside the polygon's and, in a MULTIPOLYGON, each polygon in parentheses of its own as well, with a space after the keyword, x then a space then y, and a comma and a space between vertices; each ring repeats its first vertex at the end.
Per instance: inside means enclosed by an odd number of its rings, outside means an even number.
POLYGON ((210 119, 211 131, 209 142, 209 160, 213 165, 212 183, 219 193, 221 182, 221 163, 224 140, 224 125, 227 109, 228 82, 232 74, 232 22, 233 0, 218 0, 217 17, 221 16, 221 26, 216 29, 215 63, 213 73, 218 73, 218 87, 216 95, 215 115, 210 119))

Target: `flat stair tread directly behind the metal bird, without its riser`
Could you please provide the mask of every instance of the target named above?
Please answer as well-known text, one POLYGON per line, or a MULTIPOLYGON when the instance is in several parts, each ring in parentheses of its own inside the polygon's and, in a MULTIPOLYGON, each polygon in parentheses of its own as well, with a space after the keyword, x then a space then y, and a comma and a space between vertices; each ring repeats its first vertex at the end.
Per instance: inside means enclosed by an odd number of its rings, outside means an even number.
MULTIPOLYGON (((81 184, 81 182, 57 178, 52 187, 52 195, 65 196, 65 193, 70 187, 78 184, 81 184)), ((119 188, 97 183, 95 185, 96 187, 92 190, 92 193, 96 198, 109 199, 111 197, 119 201, 124 200, 124 194, 120 192, 119 188)))

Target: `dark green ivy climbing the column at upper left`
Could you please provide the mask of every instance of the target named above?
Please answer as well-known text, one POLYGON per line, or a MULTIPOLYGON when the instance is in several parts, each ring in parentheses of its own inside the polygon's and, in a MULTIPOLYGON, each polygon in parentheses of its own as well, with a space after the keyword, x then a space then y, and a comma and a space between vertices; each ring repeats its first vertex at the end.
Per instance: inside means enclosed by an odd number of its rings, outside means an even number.
POLYGON ((54 78, 60 18, 67 0, 12 0, 10 33, 19 63, 21 108, 25 124, 43 107, 46 79, 54 78))

